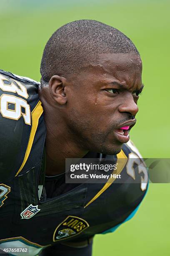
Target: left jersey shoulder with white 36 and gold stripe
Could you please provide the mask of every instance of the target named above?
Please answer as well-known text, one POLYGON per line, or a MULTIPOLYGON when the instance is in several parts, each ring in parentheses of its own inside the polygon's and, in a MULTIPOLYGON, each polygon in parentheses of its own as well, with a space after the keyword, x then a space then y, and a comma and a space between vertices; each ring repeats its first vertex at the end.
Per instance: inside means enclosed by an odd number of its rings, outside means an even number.
POLYGON ((0 182, 27 166, 35 132, 44 129, 38 86, 33 79, 0 70, 0 182))

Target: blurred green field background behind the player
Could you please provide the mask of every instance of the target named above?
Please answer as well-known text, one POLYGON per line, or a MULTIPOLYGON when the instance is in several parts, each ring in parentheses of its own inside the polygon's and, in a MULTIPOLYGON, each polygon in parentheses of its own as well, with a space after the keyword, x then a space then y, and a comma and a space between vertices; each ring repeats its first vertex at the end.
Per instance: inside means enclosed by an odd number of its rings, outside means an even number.
MULTIPOLYGON (((140 52, 145 84, 131 139, 145 158, 170 157, 169 1, 0 0, 0 10, 0 69, 38 81, 44 46, 65 23, 93 19, 125 33, 140 52)), ((150 184, 132 220, 95 236, 92 255, 169 256, 169 195, 170 184, 150 184)))

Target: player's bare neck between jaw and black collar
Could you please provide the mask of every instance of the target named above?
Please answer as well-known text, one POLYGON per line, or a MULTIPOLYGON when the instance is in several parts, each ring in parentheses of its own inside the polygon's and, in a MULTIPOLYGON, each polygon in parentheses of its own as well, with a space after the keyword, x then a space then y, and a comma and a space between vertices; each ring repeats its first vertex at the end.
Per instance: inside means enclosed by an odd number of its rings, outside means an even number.
MULTIPOLYGON (((62 117, 57 118, 56 107, 50 106, 41 95, 40 100, 47 129, 46 175, 53 176, 65 172, 66 158, 82 158, 88 151, 80 146, 79 139, 69 130, 62 117)), ((60 114, 60 110, 58 112, 60 114)))

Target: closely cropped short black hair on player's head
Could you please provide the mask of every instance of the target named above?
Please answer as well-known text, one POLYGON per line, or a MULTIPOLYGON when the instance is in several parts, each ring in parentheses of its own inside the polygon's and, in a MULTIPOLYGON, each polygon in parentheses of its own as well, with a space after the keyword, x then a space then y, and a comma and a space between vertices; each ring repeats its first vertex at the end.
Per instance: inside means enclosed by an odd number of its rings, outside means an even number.
POLYGON ((76 74, 97 54, 135 53, 133 42, 118 29, 96 20, 76 20, 57 29, 45 46, 41 82, 53 75, 76 74))

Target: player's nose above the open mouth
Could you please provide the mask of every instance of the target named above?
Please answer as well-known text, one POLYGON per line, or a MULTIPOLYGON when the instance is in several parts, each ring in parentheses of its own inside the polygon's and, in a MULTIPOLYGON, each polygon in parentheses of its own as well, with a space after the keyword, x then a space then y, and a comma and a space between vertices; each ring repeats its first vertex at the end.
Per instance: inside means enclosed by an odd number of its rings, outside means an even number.
POLYGON ((119 105, 118 110, 121 113, 128 112, 134 116, 138 113, 139 108, 134 101, 133 95, 131 93, 130 95, 128 95, 128 97, 124 98, 123 102, 119 105))

